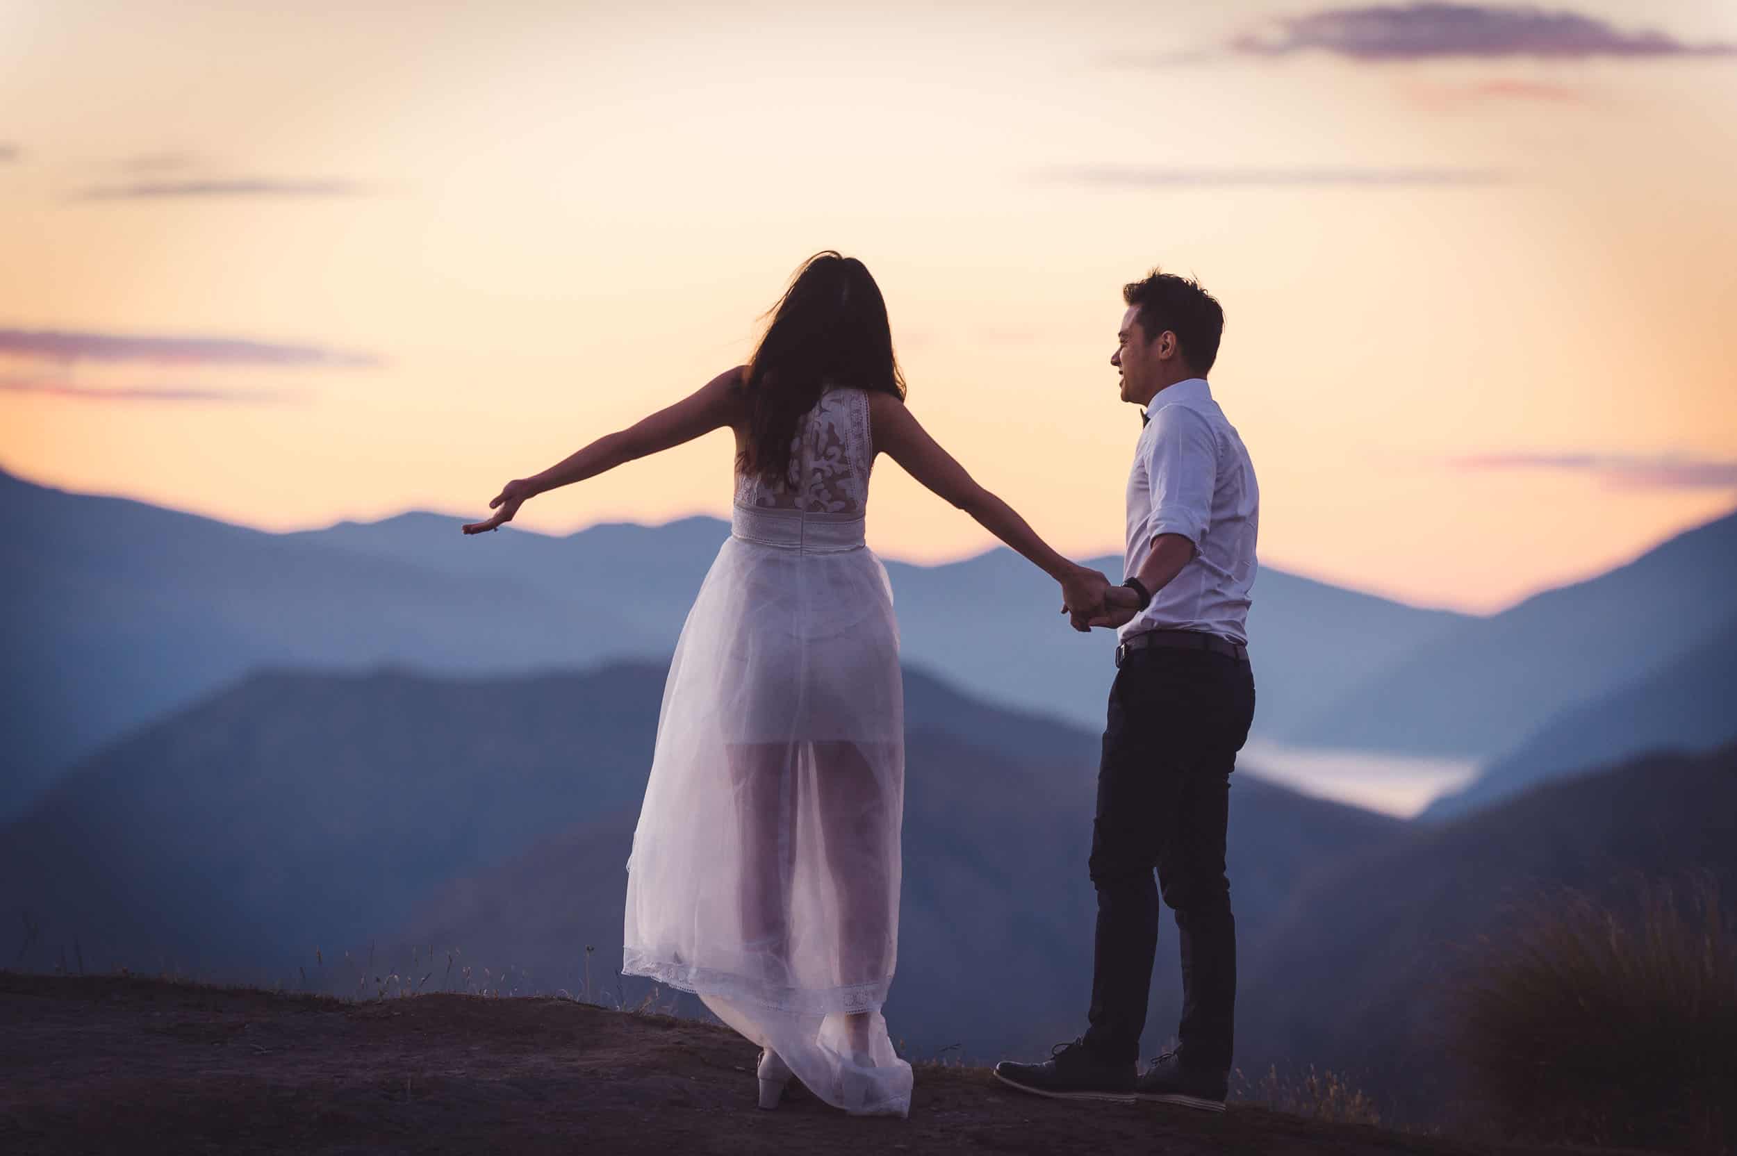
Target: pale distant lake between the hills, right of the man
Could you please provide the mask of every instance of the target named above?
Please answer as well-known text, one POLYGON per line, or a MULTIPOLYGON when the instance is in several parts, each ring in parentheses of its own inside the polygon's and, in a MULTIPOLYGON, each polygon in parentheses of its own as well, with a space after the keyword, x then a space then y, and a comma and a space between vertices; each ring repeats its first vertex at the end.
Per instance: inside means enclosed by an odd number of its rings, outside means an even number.
POLYGON ((1409 819, 1436 795, 1470 783, 1482 764, 1476 759, 1419 759, 1249 739, 1237 767, 1304 795, 1409 819))

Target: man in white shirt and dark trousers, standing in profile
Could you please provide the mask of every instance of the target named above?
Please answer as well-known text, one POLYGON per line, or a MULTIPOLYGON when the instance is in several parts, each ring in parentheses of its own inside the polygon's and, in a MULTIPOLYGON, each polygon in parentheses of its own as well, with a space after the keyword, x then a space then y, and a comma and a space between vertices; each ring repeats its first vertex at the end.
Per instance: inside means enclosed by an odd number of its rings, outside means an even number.
MULTIPOLYGON (((1002 1062, 995 1074, 1039 1095, 1223 1111, 1237 995, 1225 828, 1254 719, 1245 623, 1259 488, 1205 380, 1225 328, 1219 304, 1157 271, 1122 299, 1110 365, 1146 425, 1127 479, 1127 581, 1089 620, 1120 632, 1093 821, 1091 1028, 1042 1064, 1002 1062), (1160 894, 1176 913, 1183 1015, 1176 1050, 1141 1076, 1160 894)), ((1073 625, 1087 620, 1075 613, 1073 625)))

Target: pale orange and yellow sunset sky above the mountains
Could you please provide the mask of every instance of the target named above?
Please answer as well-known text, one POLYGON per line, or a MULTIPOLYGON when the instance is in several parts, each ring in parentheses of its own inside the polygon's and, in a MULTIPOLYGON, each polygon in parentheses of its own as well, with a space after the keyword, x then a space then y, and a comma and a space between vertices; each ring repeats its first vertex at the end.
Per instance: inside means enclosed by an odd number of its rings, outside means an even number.
MULTIPOLYGON (((0 0, 0 467, 476 517, 839 248, 929 430, 1119 550, 1162 266, 1225 304, 1263 561, 1489 611, 1737 505, 1734 123, 1728 0, 0 0)), ((519 521, 728 503, 714 434, 519 521)), ((988 545, 893 465, 868 521, 988 545)))

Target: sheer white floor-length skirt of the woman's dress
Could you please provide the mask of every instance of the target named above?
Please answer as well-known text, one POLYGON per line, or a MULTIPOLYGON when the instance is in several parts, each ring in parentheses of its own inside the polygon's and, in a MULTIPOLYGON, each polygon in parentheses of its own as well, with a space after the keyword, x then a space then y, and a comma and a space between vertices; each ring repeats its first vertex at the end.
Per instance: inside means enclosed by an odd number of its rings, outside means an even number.
POLYGON ((829 1104, 903 1116, 891 587, 862 519, 738 507, 735 529, 664 689, 622 970, 697 993, 829 1104))

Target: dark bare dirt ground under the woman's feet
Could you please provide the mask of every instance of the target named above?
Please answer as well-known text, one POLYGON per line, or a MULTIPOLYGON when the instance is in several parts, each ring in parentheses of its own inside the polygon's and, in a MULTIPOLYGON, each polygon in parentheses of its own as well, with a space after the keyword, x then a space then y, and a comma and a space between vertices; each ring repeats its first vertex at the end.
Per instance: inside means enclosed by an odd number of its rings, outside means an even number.
MULTIPOLYGON (((1020 1095, 917 1069, 908 1120, 754 1106, 728 1029, 556 998, 347 1003, 0 972, 3 1153, 1480 1153, 1258 1107, 1020 1095)), ((1551 1149, 1560 1153, 1562 1149, 1551 1149)))

